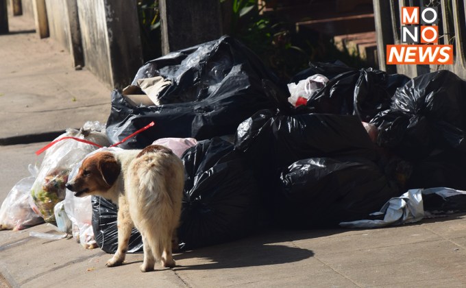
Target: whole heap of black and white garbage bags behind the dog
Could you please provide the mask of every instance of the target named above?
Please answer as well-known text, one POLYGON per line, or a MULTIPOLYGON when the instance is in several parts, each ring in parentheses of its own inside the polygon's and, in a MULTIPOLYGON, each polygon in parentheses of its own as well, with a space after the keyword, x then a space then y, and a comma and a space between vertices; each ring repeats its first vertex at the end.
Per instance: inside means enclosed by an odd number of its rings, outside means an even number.
MULTIPOLYGON (((425 211, 465 211, 463 91, 465 80, 449 71, 410 79, 338 61, 310 63, 283 84, 223 36, 151 60, 113 91, 108 143, 73 152, 71 163, 45 160, 47 173, 30 184, 32 207, 40 219, 68 223, 59 226, 71 226, 86 248, 114 252, 118 208, 101 197, 77 200, 62 182, 88 153, 156 143, 185 167, 182 250, 267 226, 367 228, 419 221, 425 211), (47 184, 57 191, 42 197, 47 184), (52 216, 62 200, 69 222, 52 216)), ((134 229, 129 252, 142 249, 134 229)))

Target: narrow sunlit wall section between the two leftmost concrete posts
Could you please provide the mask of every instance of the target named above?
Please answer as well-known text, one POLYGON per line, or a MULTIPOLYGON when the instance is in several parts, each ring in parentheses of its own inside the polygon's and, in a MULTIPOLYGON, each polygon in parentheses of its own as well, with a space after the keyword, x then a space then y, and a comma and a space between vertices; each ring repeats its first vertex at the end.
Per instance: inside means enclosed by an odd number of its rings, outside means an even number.
POLYGON ((50 37, 70 52, 70 25, 65 5, 66 0, 45 0, 50 37))

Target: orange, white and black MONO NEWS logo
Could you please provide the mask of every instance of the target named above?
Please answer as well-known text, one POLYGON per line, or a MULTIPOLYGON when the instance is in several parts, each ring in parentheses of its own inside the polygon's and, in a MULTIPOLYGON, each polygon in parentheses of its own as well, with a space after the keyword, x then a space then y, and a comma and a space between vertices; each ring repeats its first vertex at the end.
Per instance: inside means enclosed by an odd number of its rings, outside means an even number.
POLYGON ((453 64, 453 45, 439 43, 437 7, 402 7, 402 45, 387 45, 387 64, 453 64))

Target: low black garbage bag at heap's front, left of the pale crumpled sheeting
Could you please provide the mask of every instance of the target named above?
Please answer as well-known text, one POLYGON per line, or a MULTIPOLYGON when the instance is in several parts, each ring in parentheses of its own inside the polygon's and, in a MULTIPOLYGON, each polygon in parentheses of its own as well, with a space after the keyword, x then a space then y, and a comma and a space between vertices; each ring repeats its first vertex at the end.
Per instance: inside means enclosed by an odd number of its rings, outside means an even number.
POLYGON ((282 171, 275 218, 286 228, 328 228, 365 219, 400 190, 365 158, 308 158, 282 171))

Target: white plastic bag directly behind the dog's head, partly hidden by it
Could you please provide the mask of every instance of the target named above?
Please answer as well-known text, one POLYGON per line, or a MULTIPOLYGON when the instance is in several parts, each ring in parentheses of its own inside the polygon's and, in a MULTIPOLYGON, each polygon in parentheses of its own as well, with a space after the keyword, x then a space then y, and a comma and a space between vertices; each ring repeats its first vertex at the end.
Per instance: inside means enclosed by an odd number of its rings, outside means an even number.
MULTIPOLYGON (((77 174, 82 162, 88 156, 97 152, 103 151, 121 151, 118 147, 103 147, 93 152, 90 152, 82 158, 82 160, 73 167, 69 178, 73 179, 77 174)), ((77 243, 80 243, 86 249, 97 248, 93 230, 93 204, 91 203, 92 196, 75 197, 74 193, 66 189, 66 197, 64 198, 64 211, 71 221, 71 232, 77 243)))

